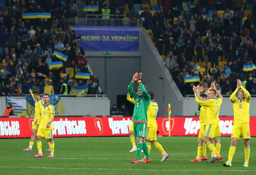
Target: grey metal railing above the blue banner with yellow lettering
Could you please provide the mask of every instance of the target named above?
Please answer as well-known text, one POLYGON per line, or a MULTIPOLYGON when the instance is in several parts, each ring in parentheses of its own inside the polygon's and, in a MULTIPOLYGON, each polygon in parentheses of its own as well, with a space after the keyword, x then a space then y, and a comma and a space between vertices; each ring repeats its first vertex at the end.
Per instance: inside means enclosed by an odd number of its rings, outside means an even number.
POLYGON ((125 15, 110 14, 109 19, 102 19, 102 14, 87 14, 86 18, 70 18, 69 26, 90 26, 90 27, 142 27, 142 20, 130 20, 125 15), (117 17, 122 17, 121 19, 117 17))

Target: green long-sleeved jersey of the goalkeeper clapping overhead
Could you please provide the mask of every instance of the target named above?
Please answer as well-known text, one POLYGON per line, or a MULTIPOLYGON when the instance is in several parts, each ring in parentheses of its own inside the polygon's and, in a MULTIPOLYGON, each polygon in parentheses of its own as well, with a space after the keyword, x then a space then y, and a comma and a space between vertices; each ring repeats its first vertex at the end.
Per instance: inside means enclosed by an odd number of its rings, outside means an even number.
POLYGON ((130 95, 135 99, 135 106, 134 106, 134 113, 132 115, 132 121, 135 123, 147 124, 148 123, 147 110, 148 110, 151 97, 146 91, 142 83, 139 83, 142 96, 139 96, 136 92, 134 92, 133 85, 134 83, 131 82, 131 84, 127 89, 130 95))

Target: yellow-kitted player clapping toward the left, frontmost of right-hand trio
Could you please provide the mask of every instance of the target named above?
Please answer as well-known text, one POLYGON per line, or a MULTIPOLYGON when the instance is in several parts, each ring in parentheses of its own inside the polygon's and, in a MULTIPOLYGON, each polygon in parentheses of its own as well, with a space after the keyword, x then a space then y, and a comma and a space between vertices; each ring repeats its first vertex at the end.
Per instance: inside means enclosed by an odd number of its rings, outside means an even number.
POLYGON ((198 89, 196 89, 195 86, 193 86, 193 91, 195 92, 196 102, 200 106, 207 106, 207 117, 205 119, 206 126, 203 141, 212 153, 212 158, 208 161, 208 163, 213 163, 218 160, 218 157, 220 156, 215 146, 212 146, 212 143, 210 142, 215 136, 215 131, 217 128, 216 115, 218 113, 219 106, 218 100, 215 98, 216 91, 214 89, 210 89, 207 92, 207 100, 201 99, 198 89))

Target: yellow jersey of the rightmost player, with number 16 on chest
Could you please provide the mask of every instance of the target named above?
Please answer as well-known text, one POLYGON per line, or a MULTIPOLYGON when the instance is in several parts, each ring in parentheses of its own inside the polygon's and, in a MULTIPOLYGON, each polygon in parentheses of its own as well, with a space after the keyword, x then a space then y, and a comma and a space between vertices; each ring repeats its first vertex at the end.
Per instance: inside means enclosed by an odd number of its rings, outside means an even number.
POLYGON ((235 97, 235 100, 231 102, 234 110, 234 124, 250 123, 250 99, 235 97))

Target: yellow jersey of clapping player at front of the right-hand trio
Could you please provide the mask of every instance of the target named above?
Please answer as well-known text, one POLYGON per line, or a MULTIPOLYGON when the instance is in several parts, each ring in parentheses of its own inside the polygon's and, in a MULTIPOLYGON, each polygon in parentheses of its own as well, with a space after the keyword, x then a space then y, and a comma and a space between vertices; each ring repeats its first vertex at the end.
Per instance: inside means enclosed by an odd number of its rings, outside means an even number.
POLYGON ((219 111, 219 105, 218 100, 216 98, 211 98, 207 100, 203 100, 200 97, 199 93, 195 93, 195 101, 200 106, 206 106, 207 107, 207 116, 205 118, 204 124, 217 124, 216 115, 219 111))

